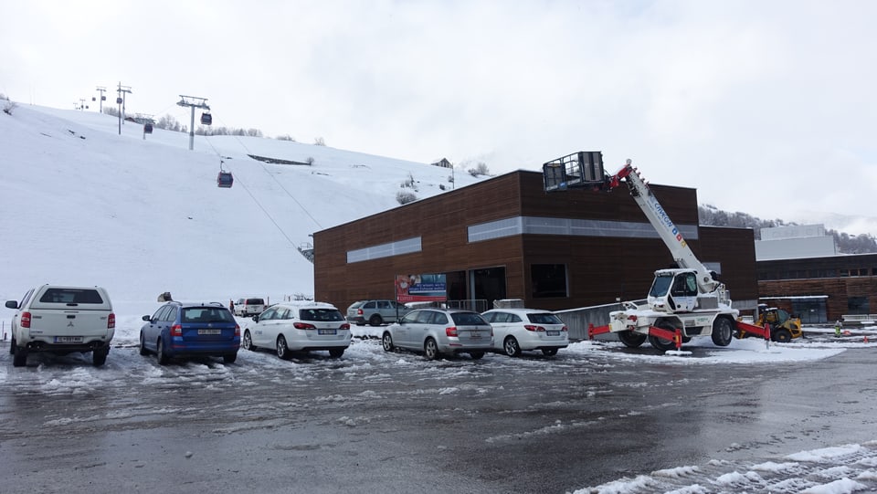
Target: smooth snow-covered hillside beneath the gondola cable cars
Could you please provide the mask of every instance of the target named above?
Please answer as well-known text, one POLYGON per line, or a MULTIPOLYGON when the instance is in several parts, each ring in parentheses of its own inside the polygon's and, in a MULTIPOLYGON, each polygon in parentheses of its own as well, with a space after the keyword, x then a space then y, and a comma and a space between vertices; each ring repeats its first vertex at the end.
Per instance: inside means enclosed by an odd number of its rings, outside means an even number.
POLYGON ((448 169, 299 142, 195 136, 189 151, 188 141, 160 129, 144 140, 132 122, 120 136, 116 118, 95 112, 0 114, 0 298, 40 283, 102 285, 117 312, 141 313, 164 291, 312 295, 312 264, 296 249, 309 234, 398 206, 409 176, 418 198, 478 180, 457 171, 451 184, 448 169), (220 156, 231 189, 217 187, 220 156))

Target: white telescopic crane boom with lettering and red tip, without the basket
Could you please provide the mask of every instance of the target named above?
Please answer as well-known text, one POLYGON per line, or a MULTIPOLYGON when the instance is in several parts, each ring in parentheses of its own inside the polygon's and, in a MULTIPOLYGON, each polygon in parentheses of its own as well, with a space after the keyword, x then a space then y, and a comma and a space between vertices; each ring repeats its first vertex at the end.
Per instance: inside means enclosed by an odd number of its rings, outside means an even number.
POLYGON ((670 215, 664 211, 663 206, 658 202, 655 194, 651 193, 649 185, 642 180, 639 172, 633 167, 630 160, 618 170, 608 180, 608 188, 618 187, 621 182, 628 184, 630 195, 633 200, 642 209, 649 223, 658 232, 660 239, 664 241, 664 245, 670 249, 673 260, 679 264, 680 268, 690 268, 697 272, 697 284, 702 293, 709 293, 718 288, 719 282, 713 279, 713 274, 703 266, 703 263, 694 256, 692 248, 688 246, 688 242, 682 236, 679 228, 673 224, 670 215))

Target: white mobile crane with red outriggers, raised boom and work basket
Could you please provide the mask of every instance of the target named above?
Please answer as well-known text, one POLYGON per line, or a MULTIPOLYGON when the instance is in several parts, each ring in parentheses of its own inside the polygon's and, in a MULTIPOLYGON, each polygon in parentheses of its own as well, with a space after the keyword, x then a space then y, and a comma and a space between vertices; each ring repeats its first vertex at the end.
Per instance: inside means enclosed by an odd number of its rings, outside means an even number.
POLYGON ((731 343, 734 333, 769 338, 769 327, 736 321, 739 310, 731 307, 724 284, 703 266, 682 237, 670 216, 651 193, 630 160, 614 175, 603 172, 601 152, 575 152, 543 165, 545 192, 570 188, 611 191, 623 182, 660 239, 670 249, 679 268, 655 271, 645 303, 624 302, 624 310, 609 313, 606 326, 588 328, 588 337, 613 332, 630 348, 648 339, 663 351, 679 350, 692 337, 710 336, 717 346, 731 343))

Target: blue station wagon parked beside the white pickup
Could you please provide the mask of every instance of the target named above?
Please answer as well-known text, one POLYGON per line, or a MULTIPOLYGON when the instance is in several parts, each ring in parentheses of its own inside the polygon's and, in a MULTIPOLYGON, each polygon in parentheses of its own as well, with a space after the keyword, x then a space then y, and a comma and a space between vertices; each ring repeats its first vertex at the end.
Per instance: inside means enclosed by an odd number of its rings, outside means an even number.
POLYGON ((240 326, 221 303, 170 301, 143 321, 140 354, 154 352, 162 365, 175 357, 216 356, 225 363, 238 359, 240 326))

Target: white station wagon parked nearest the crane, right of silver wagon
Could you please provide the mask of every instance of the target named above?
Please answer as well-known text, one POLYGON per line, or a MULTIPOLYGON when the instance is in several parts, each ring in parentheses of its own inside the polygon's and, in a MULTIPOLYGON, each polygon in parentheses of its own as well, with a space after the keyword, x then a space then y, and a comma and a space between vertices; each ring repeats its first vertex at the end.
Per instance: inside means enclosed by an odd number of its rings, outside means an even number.
POLYGON ((555 355, 569 345, 564 321, 548 310, 494 309, 482 314, 493 326, 493 349, 517 357, 522 350, 555 355))

